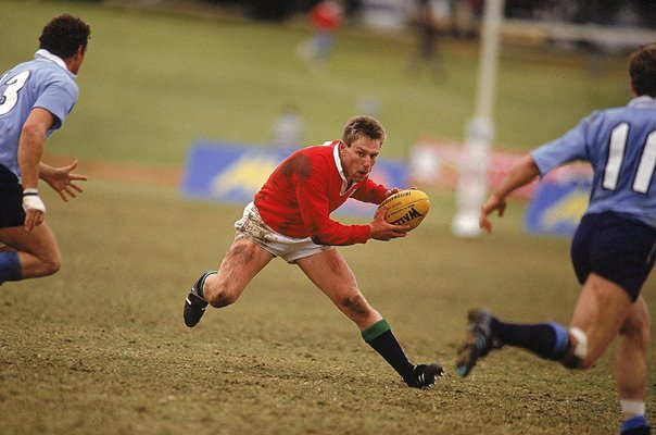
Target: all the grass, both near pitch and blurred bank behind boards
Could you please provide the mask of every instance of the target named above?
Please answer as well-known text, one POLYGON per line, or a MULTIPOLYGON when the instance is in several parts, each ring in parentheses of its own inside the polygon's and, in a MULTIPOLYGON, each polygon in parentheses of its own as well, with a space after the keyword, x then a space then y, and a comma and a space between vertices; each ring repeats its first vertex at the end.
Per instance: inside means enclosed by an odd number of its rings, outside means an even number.
MULTIPOLYGON (((380 92, 398 145, 392 154, 421 135, 459 137, 472 110, 476 50, 468 44, 445 46, 449 79, 436 84, 403 75, 407 44, 348 34, 330 74, 314 77, 293 58, 306 36, 298 27, 77 2, 3 1, 0 69, 31 53, 40 26, 64 10, 88 17, 94 33, 79 105, 49 152, 79 156, 83 171, 87 160, 180 165, 199 136, 264 141, 287 97, 302 107, 318 141, 341 129, 359 91, 380 92), (263 41, 276 41, 278 51, 262 53, 263 41)), ((590 77, 575 57, 506 50, 500 142, 528 147, 597 105, 621 104, 621 65, 611 60, 605 74, 590 77)), ((451 195, 430 194, 433 209, 409 237, 342 249, 412 360, 447 368, 436 388, 414 390, 282 261, 237 304, 185 327, 188 287, 217 265, 240 207, 118 179, 92 179, 67 204, 47 191, 64 265, 52 277, 0 287, 0 433, 617 433, 615 346, 585 373, 507 349, 467 380, 455 375, 469 307, 567 323, 578 285, 568 240, 522 233, 521 204, 495 222, 492 236, 462 240, 450 231, 451 195)), ((652 276, 644 289, 652 312, 655 285, 652 276)))

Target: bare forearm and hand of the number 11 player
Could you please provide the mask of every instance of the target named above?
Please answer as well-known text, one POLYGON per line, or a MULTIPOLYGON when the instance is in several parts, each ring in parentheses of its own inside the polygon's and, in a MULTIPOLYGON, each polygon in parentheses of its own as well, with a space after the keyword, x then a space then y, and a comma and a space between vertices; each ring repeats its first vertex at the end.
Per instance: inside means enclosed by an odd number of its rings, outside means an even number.
POLYGON ((497 211, 499 215, 503 216, 506 210, 506 197, 515 189, 532 182, 538 175, 540 175, 540 170, 538 169, 535 161, 530 154, 527 154, 513 166, 508 175, 501 181, 485 203, 483 203, 478 220, 479 226, 488 233, 491 233, 492 223, 488 219, 490 213, 497 211))

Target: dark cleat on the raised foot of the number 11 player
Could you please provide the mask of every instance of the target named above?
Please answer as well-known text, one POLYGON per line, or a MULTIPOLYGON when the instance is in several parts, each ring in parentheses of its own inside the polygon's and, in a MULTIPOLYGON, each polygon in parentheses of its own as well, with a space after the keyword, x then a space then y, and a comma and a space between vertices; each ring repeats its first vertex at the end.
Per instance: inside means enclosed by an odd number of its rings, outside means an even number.
POLYGON ((467 313, 467 336, 458 348, 456 362, 461 376, 467 376, 479 358, 501 347, 501 343, 492 335, 493 319, 492 313, 484 309, 471 309, 467 313))

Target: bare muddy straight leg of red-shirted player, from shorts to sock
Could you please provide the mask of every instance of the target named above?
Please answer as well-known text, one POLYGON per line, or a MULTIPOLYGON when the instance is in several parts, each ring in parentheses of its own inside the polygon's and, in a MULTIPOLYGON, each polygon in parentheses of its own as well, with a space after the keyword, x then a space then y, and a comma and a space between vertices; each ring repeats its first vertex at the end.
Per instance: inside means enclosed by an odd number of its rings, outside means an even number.
POLYGON ((314 285, 361 330, 382 319, 359 291, 353 272, 338 249, 305 257, 298 264, 314 285))

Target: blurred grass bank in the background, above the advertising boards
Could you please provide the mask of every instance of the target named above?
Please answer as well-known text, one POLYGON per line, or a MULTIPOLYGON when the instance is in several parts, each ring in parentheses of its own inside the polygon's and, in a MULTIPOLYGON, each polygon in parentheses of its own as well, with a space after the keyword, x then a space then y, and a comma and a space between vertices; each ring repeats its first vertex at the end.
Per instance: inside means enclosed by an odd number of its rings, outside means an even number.
MULTIPOLYGON (((306 138, 339 137, 363 98, 380 102, 386 154, 403 157, 421 137, 462 140, 474 115, 478 47, 445 40, 446 74, 413 75, 411 35, 348 28, 325 75, 295 57, 310 36, 299 22, 261 24, 178 16, 66 1, 3 2, 0 69, 28 59, 51 16, 71 12, 92 26, 81 94, 49 153, 81 159, 182 164, 198 138, 266 142, 278 110, 298 105, 306 138), (12 5, 14 5, 12 8, 12 5)), ((628 100, 626 62, 591 75, 576 53, 505 46, 499 71, 495 142, 528 149, 572 127, 594 109, 628 100)))

